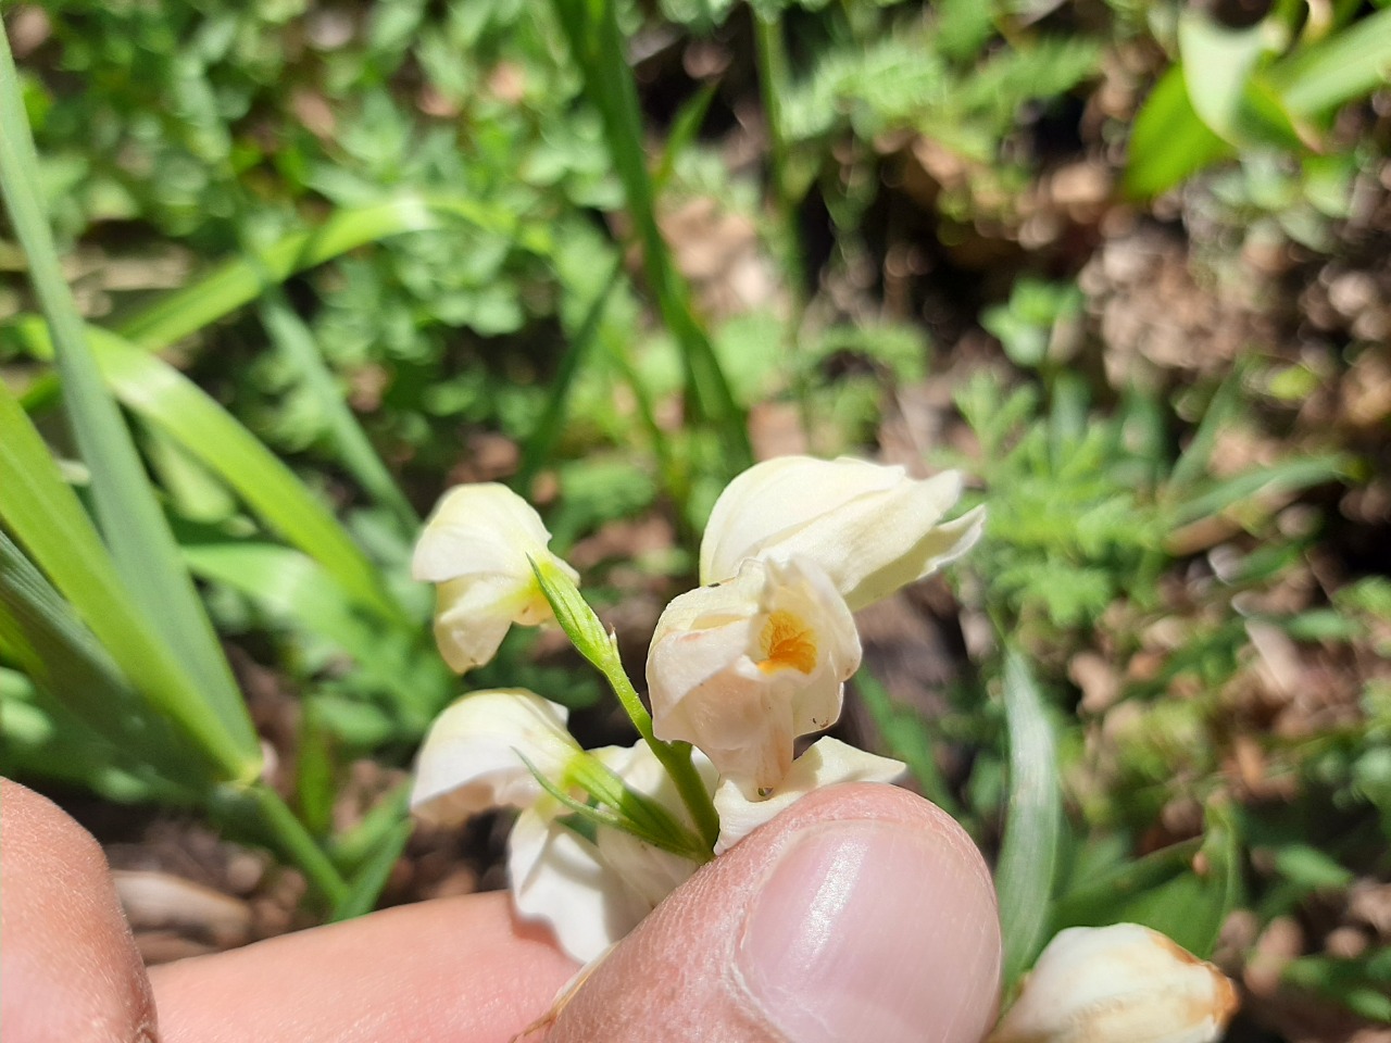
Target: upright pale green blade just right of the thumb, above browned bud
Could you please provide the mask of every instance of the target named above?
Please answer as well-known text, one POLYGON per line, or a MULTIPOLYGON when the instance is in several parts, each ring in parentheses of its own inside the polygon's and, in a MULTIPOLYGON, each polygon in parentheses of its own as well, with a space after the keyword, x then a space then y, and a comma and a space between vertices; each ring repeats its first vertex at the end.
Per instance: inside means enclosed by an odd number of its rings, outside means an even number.
POLYGON ((1004 654, 1004 719, 1010 733, 1010 800, 995 889, 1008 989, 1043 944, 1063 827, 1053 726, 1028 663, 1013 648, 1004 654))

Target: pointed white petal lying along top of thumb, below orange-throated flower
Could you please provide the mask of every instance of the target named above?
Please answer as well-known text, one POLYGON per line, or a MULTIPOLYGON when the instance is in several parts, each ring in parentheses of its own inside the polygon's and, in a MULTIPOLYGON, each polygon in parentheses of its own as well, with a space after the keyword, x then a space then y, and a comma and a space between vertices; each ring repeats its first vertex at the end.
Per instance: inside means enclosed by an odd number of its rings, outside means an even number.
POLYGON ((867 754, 826 736, 793 761, 787 775, 766 795, 741 787, 734 779, 722 779, 715 789, 715 811, 719 812, 715 854, 723 854, 812 790, 850 782, 892 783, 907 769, 901 761, 867 754))

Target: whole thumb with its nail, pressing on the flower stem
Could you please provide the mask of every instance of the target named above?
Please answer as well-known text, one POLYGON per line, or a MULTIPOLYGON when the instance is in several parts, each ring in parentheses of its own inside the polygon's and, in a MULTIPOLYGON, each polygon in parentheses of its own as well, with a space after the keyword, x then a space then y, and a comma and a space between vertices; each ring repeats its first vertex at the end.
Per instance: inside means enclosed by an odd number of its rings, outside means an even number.
POLYGON ((819 790, 673 891, 547 1043, 976 1043, 1000 929, 981 854, 892 786, 819 790))

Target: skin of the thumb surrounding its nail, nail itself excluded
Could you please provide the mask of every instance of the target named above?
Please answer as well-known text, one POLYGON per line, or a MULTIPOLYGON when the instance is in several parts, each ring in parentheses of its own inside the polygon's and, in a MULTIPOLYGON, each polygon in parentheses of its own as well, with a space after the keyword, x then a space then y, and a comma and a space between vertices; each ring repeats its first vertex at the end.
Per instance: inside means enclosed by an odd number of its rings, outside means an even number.
POLYGON ((1000 947, 989 871, 943 811, 901 789, 860 783, 804 797, 702 866, 590 973, 545 1043, 794 1043, 748 1000, 734 950, 750 898, 780 852, 804 830, 833 829, 836 822, 894 823, 940 841, 940 858, 951 869, 947 879, 956 882, 956 893, 942 894, 942 905, 953 916, 979 922, 981 944, 993 950, 996 969, 982 972, 978 1026, 924 1026, 924 1039, 982 1036, 995 1018, 1000 947))

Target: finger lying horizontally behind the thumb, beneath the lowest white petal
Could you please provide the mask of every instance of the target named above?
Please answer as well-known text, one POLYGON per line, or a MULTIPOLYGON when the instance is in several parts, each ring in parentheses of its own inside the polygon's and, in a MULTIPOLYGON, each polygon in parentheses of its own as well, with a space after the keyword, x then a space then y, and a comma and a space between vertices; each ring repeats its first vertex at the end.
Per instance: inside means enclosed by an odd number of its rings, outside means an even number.
POLYGON ((506 1043, 576 969, 491 893, 182 960, 150 979, 164 1043, 506 1043))

